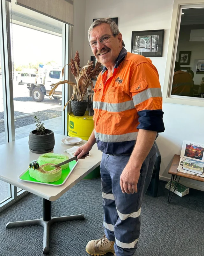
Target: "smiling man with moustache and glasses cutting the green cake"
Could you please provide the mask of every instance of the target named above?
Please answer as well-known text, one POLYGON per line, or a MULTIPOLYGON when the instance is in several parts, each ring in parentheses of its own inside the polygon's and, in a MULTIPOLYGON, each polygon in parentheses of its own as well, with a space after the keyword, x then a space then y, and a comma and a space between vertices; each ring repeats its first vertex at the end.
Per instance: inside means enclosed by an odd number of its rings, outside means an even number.
POLYGON ((156 160, 154 142, 158 132, 164 132, 159 76, 151 60, 126 51, 110 18, 95 20, 88 38, 104 69, 94 88, 94 131, 75 155, 84 158, 96 142, 103 152, 105 235, 91 240, 86 252, 131 256, 137 248, 142 199, 156 160))

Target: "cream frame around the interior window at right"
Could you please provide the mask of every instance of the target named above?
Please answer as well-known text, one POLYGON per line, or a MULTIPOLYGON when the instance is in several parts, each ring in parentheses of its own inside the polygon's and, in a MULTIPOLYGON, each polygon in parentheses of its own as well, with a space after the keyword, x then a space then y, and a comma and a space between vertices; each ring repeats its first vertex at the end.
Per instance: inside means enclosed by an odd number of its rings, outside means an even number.
POLYGON ((204 8, 204 0, 174 0, 164 76, 163 102, 204 107, 204 98, 171 95, 182 9, 204 8))

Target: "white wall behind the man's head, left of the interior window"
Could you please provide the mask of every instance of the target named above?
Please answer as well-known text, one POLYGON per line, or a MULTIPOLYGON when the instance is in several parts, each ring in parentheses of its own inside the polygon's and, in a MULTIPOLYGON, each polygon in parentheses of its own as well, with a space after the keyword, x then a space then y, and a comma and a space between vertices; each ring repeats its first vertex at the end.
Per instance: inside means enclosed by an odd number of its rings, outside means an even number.
MULTIPOLYGON (((151 58, 153 64, 157 66, 160 80, 163 83, 172 6, 173 0, 104 0, 103 4, 99 0, 86 0, 85 30, 88 31, 93 18, 118 17, 118 27, 122 33, 125 48, 130 52, 132 31, 165 29, 164 57, 151 58)), ((84 61, 86 62, 93 55, 88 44, 89 41, 86 33, 84 45, 84 61)))

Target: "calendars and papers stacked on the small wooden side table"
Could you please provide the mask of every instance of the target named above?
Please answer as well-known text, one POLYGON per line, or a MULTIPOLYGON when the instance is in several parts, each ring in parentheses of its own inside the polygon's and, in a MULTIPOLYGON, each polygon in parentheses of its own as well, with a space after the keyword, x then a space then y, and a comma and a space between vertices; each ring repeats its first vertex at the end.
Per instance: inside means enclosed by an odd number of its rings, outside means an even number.
POLYGON ((204 177, 203 144, 183 142, 178 171, 204 177))

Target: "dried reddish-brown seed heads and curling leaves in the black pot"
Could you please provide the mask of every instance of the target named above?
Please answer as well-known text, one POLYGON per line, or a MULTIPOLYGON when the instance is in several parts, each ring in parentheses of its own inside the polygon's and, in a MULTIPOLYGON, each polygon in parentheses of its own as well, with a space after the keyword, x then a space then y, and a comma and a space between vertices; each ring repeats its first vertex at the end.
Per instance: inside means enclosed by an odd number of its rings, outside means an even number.
MULTIPOLYGON (((60 81, 56 84, 52 84, 52 86, 54 86, 54 87, 51 89, 51 91, 49 93, 49 96, 51 96, 51 98, 52 98, 53 95, 55 94, 55 90, 58 87, 58 85, 69 84, 72 86, 73 94, 72 94, 70 100, 64 106, 63 110, 66 108, 66 106, 69 104, 69 102, 74 99, 75 95, 77 97, 77 101, 83 101, 89 85, 91 85, 91 89, 93 88, 93 82, 91 79, 96 78, 99 75, 99 73, 101 72, 101 63, 98 61, 96 63, 95 68, 93 68, 93 61, 91 61, 91 62, 88 61, 87 65, 85 65, 83 68, 81 68, 81 71, 80 71, 80 57, 79 57, 78 51, 76 52, 76 54, 74 56, 74 60, 71 58, 70 63, 67 65, 71 66, 71 68, 69 70, 71 70, 71 73, 74 75, 74 77, 76 79, 76 83, 73 83, 68 80, 60 81)), ((65 66, 67 66, 67 65, 65 65, 65 66)), ((62 76, 64 76, 65 66, 62 68, 62 76)))

